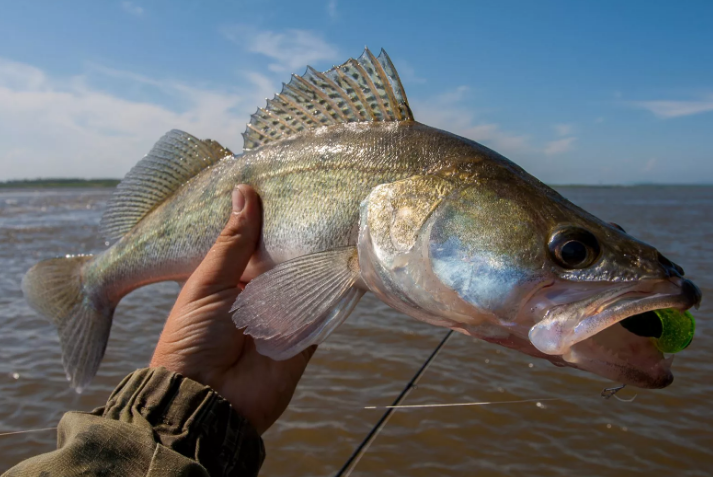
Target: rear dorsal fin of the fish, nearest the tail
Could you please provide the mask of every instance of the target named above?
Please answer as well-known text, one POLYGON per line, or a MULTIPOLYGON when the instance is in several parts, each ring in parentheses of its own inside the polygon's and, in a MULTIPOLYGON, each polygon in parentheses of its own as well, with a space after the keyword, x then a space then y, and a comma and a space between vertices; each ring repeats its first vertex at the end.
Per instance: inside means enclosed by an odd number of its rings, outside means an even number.
POLYGON ((210 139, 169 131, 116 187, 102 215, 102 234, 122 237, 189 179, 231 154, 210 139))

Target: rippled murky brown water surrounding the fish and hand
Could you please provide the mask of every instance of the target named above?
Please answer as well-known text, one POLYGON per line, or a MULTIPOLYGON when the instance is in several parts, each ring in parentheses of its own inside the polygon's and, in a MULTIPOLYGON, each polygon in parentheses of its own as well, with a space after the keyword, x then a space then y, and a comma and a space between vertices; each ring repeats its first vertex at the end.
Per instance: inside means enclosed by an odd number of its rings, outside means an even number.
MULTIPOLYGON (((63 412, 100 406, 145 366, 178 292, 132 293, 117 309, 99 375, 84 394, 67 387, 53 327, 25 304, 23 273, 37 260, 104 248, 97 224, 110 190, 0 193, 0 432, 55 426, 63 412)), ((665 390, 613 383, 454 335, 407 404, 561 398, 524 404, 397 411, 353 475, 708 476, 713 473, 713 188, 563 188, 681 264, 704 296, 693 344, 665 390)), ((445 330, 366 296, 315 354, 290 408, 265 435, 263 475, 329 476, 421 366, 445 330)), ((55 433, 0 437, 0 472, 52 450, 55 433)))

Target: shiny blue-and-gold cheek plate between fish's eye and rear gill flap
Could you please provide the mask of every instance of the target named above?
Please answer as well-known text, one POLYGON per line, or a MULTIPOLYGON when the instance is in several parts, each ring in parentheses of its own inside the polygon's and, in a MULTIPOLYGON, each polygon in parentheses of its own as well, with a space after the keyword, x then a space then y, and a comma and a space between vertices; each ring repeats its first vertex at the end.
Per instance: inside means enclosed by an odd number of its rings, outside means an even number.
POLYGON ((444 200, 427 222, 439 281, 481 314, 510 322, 539 284, 545 252, 527 204, 474 185, 444 200))

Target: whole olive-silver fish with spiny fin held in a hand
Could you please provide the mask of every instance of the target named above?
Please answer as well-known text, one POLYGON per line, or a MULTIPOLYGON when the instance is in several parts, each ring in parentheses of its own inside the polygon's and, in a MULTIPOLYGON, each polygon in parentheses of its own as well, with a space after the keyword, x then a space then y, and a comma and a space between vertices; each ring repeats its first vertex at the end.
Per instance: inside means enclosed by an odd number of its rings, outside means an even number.
POLYGON ((683 312, 702 297, 683 269, 497 152, 418 122, 385 51, 293 75, 243 143, 234 154, 168 132, 108 201, 106 250, 26 273, 24 295, 55 323, 72 387, 97 373, 122 297, 195 270, 237 184, 256 189, 264 218, 231 315, 266 356, 322 343, 371 292, 556 366, 671 384, 673 356, 650 325, 671 314, 690 324, 683 312))

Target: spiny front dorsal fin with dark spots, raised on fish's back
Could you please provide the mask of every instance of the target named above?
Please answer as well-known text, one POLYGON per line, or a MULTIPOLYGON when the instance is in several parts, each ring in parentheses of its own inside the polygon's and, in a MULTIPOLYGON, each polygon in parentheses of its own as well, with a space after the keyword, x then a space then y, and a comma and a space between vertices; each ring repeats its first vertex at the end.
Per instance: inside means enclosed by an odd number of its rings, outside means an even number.
POLYGON ((406 93, 389 55, 368 48, 358 60, 320 73, 308 66, 250 117, 243 133, 247 151, 302 131, 361 121, 413 121, 406 93))

